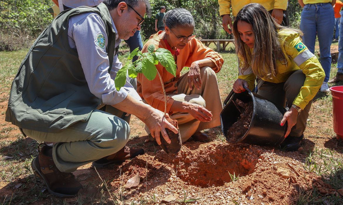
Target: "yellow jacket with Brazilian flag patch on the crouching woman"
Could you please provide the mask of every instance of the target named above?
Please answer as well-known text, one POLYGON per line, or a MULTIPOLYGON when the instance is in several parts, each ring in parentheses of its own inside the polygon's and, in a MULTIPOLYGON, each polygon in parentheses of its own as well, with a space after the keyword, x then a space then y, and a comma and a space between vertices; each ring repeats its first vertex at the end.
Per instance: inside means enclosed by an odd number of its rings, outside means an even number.
MULTIPOLYGON (((280 43, 282 51, 285 53, 287 59, 287 65, 285 62, 278 60, 277 74, 275 77, 268 78, 267 76, 261 77, 262 80, 271 83, 283 83, 286 82, 288 77, 296 70, 302 70, 306 75, 304 86, 301 87, 298 96, 293 101, 293 104, 304 109, 305 106, 312 100, 320 86, 322 85, 325 77, 323 68, 321 67, 318 59, 311 53, 307 47, 301 43, 300 36, 294 31, 283 29, 279 31, 280 43)), ((239 58, 240 62, 244 62, 242 58, 239 58)), ((244 79, 249 84, 249 89, 254 88, 254 82, 256 75, 253 73, 253 69, 249 67, 243 73, 239 65, 239 79, 244 79)))

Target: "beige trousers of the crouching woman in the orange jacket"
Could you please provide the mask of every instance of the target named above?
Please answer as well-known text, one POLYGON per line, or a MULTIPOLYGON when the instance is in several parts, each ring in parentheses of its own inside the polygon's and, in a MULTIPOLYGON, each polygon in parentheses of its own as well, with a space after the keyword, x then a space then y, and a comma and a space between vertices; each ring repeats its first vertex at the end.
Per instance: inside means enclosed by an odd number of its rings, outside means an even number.
MULTIPOLYGON (((175 112, 170 115, 171 119, 178 121, 182 143, 186 142, 195 132, 213 128, 220 125, 220 112, 223 110, 222 100, 220 98, 217 76, 210 67, 200 68, 201 88, 198 90, 193 86, 188 87, 188 72, 182 75, 178 81, 178 93, 169 94, 176 101, 195 103, 205 107, 212 112, 210 122, 200 122, 191 114, 186 112, 175 112)), ((149 129, 145 126, 147 133, 149 129)))

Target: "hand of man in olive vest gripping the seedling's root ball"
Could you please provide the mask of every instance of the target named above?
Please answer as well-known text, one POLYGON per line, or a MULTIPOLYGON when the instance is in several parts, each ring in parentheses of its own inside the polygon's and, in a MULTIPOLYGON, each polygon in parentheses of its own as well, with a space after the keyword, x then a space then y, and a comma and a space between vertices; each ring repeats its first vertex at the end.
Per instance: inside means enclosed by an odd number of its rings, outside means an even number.
MULTIPOLYGON (((168 113, 166 113, 166 118, 169 118, 168 113)), ((166 118, 163 117, 163 112, 152 108, 151 114, 148 115, 146 119, 142 119, 142 121, 149 128, 151 136, 156 139, 158 145, 161 145, 161 138, 159 135, 160 132, 167 143, 171 142, 165 130, 166 128, 173 131, 175 134, 178 133, 178 130, 171 125, 166 118)))

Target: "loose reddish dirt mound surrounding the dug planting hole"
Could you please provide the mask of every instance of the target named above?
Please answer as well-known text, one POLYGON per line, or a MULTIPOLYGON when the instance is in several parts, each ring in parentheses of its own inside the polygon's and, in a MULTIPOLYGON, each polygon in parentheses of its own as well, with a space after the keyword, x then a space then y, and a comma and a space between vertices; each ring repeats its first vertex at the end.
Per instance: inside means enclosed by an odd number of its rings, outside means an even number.
POLYGON ((178 154, 148 150, 99 174, 113 179, 109 189, 117 190, 139 173, 140 184, 122 194, 130 200, 155 194, 156 202, 161 202, 175 193, 181 199, 186 192, 190 198, 199 198, 200 204, 293 204, 298 195, 296 188, 311 184, 312 179, 304 173, 301 157, 298 152, 274 152, 247 144, 187 142, 178 154), (229 173, 235 173, 236 178, 229 173))

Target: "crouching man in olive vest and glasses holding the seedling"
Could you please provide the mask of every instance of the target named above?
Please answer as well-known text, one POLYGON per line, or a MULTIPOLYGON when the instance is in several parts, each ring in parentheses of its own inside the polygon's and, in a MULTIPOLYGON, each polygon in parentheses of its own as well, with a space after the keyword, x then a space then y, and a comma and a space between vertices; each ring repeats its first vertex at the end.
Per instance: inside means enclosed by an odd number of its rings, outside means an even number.
POLYGON ((128 81, 120 91, 114 84, 120 39, 133 36, 150 10, 149 0, 105 0, 95 8, 63 11, 23 60, 5 119, 26 136, 56 142, 32 161, 50 193, 75 196, 82 185, 71 172, 79 166, 93 162, 100 168, 144 153, 125 146, 130 127, 120 117, 127 113, 147 124, 158 144, 159 132, 170 143, 165 128, 177 133, 128 81))

